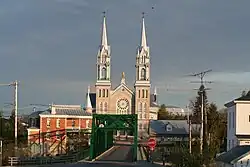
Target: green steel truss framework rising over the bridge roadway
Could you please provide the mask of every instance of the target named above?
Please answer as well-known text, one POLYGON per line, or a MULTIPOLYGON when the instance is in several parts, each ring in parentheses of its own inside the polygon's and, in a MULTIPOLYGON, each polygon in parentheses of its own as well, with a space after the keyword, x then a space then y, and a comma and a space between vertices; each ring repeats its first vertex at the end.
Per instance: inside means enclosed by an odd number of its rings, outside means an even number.
POLYGON ((90 144, 90 160, 108 150, 114 145, 114 134, 122 130, 134 136, 133 141, 133 161, 137 160, 138 144, 138 118, 137 114, 111 115, 93 114, 92 134, 90 144))

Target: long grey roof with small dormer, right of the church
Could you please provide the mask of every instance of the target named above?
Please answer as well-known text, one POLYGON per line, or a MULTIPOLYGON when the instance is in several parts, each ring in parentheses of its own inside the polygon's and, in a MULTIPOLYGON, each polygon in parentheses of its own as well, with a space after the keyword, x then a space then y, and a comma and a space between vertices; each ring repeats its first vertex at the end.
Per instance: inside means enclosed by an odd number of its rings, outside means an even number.
MULTIPOLYGON (((155 135, 188 135, 189 125, 187 120, 151 120, 150 133, 155 135), (172 127, 171 131, 166 130, 166 126, 172 127)), ((200 125, 192 124, 192 133, 199 134, 200 125)))

